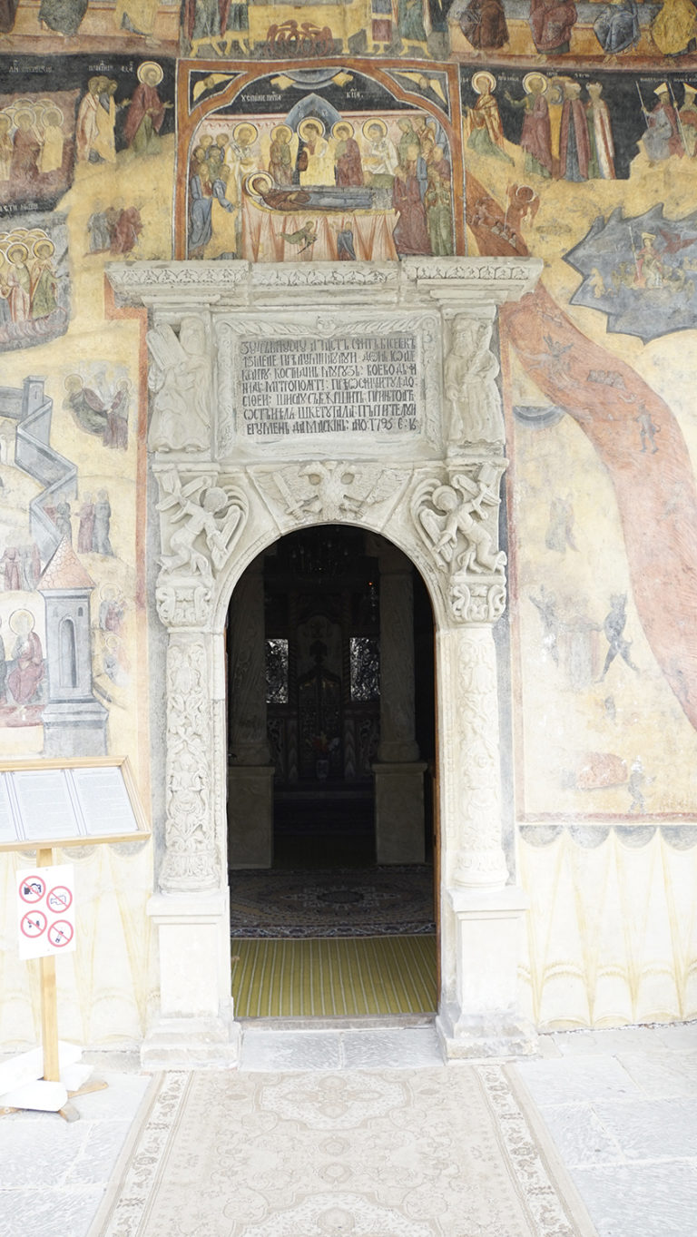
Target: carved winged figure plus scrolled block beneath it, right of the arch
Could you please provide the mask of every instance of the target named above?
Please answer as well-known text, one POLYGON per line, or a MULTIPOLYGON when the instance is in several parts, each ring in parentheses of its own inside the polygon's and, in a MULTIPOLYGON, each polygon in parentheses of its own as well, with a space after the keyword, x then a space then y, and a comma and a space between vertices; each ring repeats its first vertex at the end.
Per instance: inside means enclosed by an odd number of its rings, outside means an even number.
POLYGON ((449 605, 462 622, 493 622, 505 606, 506 555, 496 549, 501 469, 484 461, 448 482, 416 490, 411 513, 436 565, 448 575, 449 605))

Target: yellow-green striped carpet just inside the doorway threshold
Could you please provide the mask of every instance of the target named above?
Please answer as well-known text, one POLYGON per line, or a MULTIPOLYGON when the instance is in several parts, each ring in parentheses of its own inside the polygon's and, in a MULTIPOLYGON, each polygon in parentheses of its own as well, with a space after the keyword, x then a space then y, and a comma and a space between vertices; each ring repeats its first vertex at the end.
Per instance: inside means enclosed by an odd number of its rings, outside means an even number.
POLYGON ((233 940, 238 1018, 433 1013, 436 936, 233 940))

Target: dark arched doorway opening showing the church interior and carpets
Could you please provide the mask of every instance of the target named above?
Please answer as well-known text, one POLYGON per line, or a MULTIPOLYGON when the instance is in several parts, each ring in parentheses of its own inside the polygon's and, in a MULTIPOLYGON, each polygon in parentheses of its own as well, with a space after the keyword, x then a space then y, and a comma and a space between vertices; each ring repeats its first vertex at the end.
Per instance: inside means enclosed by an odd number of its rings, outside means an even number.
POLYGON ((248 568, 228 631, 238 1016, 435 1013, 433 615, 421 576, 375 533, 298 529, 248 568), (250 693, 258 730, 264 716, 254 771, 238 751, 249 758, 239 701, 249 740, 250 693))

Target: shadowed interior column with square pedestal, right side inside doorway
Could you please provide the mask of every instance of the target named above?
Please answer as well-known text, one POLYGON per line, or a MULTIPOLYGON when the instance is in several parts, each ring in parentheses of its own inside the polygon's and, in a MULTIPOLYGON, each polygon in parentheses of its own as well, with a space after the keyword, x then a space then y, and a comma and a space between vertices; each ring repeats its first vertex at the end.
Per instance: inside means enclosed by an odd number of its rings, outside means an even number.
POLYGON ((411 564, 380 552, 380 745, 375 774, 378 863, 422 863, 423 773, 415 738, 411 564))

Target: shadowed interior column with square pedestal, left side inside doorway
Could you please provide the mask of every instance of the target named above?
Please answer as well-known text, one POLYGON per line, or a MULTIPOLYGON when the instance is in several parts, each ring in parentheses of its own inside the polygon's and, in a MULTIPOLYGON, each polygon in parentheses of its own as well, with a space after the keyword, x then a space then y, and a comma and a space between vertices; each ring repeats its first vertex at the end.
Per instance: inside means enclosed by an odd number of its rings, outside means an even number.
POLYGON ((228 740, 228 866, 271 867, 274 766, 266 737, 264 559, 233 595, 228 628, 230 734, 228 740))

